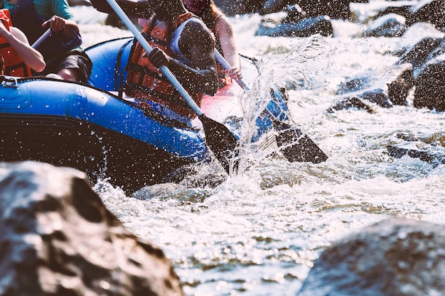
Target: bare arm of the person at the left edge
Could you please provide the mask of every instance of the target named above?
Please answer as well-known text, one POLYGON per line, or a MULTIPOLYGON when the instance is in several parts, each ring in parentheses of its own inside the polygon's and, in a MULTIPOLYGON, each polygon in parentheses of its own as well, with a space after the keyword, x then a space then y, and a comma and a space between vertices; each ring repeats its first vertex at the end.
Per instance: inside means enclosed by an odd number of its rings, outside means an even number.
POLYGON ((14 27, 11 27, 10 31, 8 31, 3 23, 0 22, 0 35, 8 40, 8 43, 16 50, 23 62, 31 69, 36 72, 42 72, 45 69, 46 64, 43 56, 37 50, 31 48, 26 35, 22 31, 14 27))

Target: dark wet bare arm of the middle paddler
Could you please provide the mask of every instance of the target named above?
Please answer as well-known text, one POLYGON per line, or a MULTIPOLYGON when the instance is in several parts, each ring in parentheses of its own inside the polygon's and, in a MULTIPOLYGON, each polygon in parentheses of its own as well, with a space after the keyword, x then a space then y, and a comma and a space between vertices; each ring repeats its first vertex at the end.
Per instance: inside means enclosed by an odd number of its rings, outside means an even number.
POLYGON ((147 56, 155 67, 166 65, 183 87, 213 95, 218 90, 214 43, 213 36, 200 22, 190 21, 181 34, 179 47, 191 60, 191 65, 169 57, 159 48, 154 48, 147 56))

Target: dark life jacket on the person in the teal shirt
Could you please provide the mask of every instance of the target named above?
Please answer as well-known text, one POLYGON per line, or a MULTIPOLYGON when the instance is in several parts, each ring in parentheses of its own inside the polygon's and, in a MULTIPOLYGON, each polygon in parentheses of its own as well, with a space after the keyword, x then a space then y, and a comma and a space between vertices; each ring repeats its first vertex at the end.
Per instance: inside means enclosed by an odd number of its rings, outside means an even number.
MULTIPOLYGON (((19 28, 29 40, 30 44, 45 33, 48 28, 42 27, 45 18, 38 15, 34 9, 33 0, 18 0, 16 5, 10 9, 11 20, 16 28, 19 28)), ((68 37, 63 32, 53 32, 43 40, 36 50, 38 50, 48 64, 48 61, 67 53, 70 50, 79 48, 82 45, 80 33, 74 37, 68 37)))

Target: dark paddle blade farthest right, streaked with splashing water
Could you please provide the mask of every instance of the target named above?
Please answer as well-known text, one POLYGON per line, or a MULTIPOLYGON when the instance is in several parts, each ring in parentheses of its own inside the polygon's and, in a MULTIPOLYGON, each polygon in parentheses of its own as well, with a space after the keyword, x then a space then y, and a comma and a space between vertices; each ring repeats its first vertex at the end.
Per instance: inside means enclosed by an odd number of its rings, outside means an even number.
POLYGON ((277 145, 284 157, 291 163, 322 163, 328 159, 313 141, 299 130, 284 122, 279 122, 274 128, 278 131, 277 145))

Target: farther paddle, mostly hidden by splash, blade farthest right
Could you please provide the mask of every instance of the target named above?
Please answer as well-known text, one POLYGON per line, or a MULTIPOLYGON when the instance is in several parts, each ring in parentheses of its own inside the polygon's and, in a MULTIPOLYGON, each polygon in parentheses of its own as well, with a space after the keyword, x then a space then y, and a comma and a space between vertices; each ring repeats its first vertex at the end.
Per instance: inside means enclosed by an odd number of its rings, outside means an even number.
MULTIPOLYGON (((216 60, 224 67, 225 70, 231 68, 230 64, 225 60, 223 55, 221 55, 218 50, 215 50, 216 60)), ((248 90, 247 84, 242 80, 236 80, 237 84, 240 85, 242 89, 248 90)), ((272 89, 272 94, 274 89, 272 89)), ((299 128, 286 124, 275 117, 267 108, 262 112, 263 115, 267 116, 274 129, 278 131, 277 145, 282 151, 284 157, 291 163, 294 161, 299 162, 311 162, 311 163, 321 163, 328 159, 326 155, 317 145, 313 143, 311 138, 307 135, 303 135, 299 128)))

